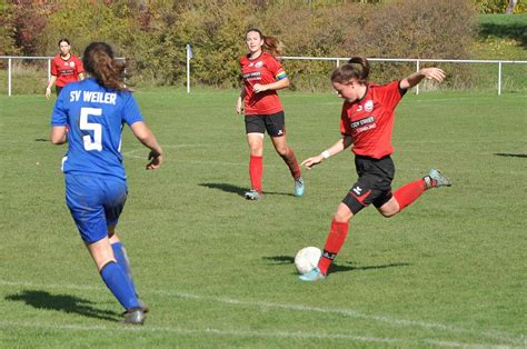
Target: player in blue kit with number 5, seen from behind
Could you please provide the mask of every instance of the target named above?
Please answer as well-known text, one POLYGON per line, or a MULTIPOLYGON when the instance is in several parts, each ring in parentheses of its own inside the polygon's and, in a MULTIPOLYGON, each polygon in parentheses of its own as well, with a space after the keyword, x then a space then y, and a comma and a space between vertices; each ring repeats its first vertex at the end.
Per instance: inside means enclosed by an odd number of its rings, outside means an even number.
POLYGON ((125 64, 105 42, 90 43, 83 54, 89 78, 67 84, 53 108, 51 142, 68 142, 62 159, 66 201, 100 276, 125 307, 125 322, 145 321, 148 308, 138 298, 128 258, 115 233, 127 199, 121 131, 128 124, 150 149, 147 169, 162 163, 162 149, 142 121, 122 77, 125 64), (67 131, 67 127, 69 131, 67 131))

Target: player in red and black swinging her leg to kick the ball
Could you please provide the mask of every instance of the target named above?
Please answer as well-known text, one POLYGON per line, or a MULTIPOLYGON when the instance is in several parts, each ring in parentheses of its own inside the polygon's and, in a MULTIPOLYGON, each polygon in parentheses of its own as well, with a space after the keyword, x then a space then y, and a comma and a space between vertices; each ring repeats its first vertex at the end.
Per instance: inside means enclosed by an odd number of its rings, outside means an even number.
POLYGON ((351 151, 355 153, 359 176, 332 218, 318 267, 300 276, 304 281, 316 281, 327 276, 329 266, 346 239, 349 220, 365 207, 374 203, 380 215, 391 217, 414 202, 425 190, 451 186, 450 180, 439 170, 431 169, 428 176, 391 193, 395 176, 390 158, 394 152, 391 129, 395 108, 409 88, 424 78, 441 82, 445 72, 438 68, 424 68, 400 81, 382 86, 368 82, 368 76, 369 62, 361 57, 354 57, 347 64, 332 71, 331 84, 345 100, 340 117, 342 138, 319 156, 302 162, 302 166, 311 169, 352 144, 351 151))

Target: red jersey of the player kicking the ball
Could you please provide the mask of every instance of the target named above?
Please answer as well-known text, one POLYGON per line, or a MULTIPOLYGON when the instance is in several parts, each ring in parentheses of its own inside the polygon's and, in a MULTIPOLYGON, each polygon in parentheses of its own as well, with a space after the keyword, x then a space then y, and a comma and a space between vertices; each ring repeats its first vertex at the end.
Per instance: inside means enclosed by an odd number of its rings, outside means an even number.
POLYGON ((374 159, 394 152, 391 129, 395 108, 405 92, 399 89, 399 81, 382 86, 369 84, 361 100, 344 102, 340 132, 354 138, 352 152, 374 159))

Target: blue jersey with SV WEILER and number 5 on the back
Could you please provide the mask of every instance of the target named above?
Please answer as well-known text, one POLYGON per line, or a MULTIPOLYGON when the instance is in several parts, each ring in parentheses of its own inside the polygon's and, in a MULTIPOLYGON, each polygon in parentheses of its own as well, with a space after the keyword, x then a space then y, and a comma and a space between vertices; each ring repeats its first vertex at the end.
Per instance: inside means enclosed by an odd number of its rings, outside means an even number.
POLYGON ((142 121, 130 92, 115 91, 84 79, 67 84, 54 103, 52 126, 68 126, 64 173, 93 173, 126 179, 122 166, 122 126, 142 121))

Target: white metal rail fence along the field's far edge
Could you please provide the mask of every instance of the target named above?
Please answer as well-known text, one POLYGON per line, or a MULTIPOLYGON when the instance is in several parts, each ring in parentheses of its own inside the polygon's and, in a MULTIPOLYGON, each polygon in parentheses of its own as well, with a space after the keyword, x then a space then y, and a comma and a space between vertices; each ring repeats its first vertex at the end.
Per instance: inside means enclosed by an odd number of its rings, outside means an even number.
MULTIPOLYGON (((52 57, 16 57, 16 56, 0 56, 0 60, 8 60, 8 96, 11 96, 12 87, 12 61, 13 60, 47 60, 48 69, 48 81, 51 78, 51 60, 52 57)), ((347 62, 349 58, 342 57, 281 57, 284 60, 311 60, 311 61, 335 61, 336 67, 341 62, 347 62)), ((498 94, 501 94, 501 72, 504 64, 527 64, 527 61, 515 61, 515 60, 474 60, 474 59, 417 59, 417 58, 368 58, 369 61, 376 62, 414 62, 416 64, 416 71, 420 69, 420 64, 424 62, 445 62, 445 63, 481 63, 481 64, 496 64, 496 80, 498 83, 498 94)), ((187 64, 189 60, 187 59, 187 64)), ((416 87, 416 93, 419 93, 419 86, 416 87)))

